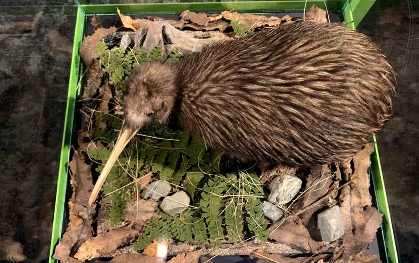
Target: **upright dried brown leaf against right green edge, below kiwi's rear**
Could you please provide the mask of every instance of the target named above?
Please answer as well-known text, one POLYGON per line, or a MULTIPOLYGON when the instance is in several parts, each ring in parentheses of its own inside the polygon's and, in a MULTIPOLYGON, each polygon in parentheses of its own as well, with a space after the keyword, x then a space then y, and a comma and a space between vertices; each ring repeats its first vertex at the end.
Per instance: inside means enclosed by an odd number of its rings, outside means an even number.
POLYGON ((362 206, 371 205, 372 197, 370 195, 370 176, 368 168, 370 167, 370 155, 374 151, 374 143, 369 143, 354 156, 354 173, 352 178, 361 194, 362 206))

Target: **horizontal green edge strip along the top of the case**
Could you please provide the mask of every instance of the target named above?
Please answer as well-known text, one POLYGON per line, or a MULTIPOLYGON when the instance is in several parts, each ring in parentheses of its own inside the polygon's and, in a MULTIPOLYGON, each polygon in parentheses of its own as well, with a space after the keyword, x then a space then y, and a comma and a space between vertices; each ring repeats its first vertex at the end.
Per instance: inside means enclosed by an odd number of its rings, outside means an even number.
POLYGON ((237 1, 237 2, 182 2, 182 3, 137 3, 137 4, 82 4, 86 15, 116 14, 118 7, 124 14, 138 13, 178 13, 184 10, 216 12, 234 9, 237 12, 264 12, 280 10, 281 12, 303 11, 311 5, 329 11, 341 11, 345 0, 276 0, 276 1, 237 1), (325 4, 326 3, 326 4, 325 4))

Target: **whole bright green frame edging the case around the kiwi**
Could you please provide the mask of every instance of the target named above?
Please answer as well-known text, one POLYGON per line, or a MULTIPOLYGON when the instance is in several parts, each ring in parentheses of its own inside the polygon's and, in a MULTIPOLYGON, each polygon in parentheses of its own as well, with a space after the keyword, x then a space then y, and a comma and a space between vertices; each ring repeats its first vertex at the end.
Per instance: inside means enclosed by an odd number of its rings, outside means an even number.
MULTIPOLYGON (((312 4, 329 12, 341 12, 348 28, 355 29, 362 18, 370 10, 375 0, 275 0, 275 1, 238 1, 238 2, 191 2, 191 3, 145 3, 145 4, 80 4, 76 0, 77 19, 71 58, 70 78, 64 119, 64 133, 58 172, 58 183, 55 200, 54 221, 52 226, 49 263, 58 261, 52 259, 55 246, 61 239, 64 225, 64 210, 68 181, 68 162, 70 155, 76 98, 81 90, 81 57, 80 46, 83 40, 86 16, 113 15, 118 7, 124 14, 147 13, 178 13, 184 10, 201 12, 219 12, 234 9, 237 12, 302 12, 312 4)), ((376 206, 383 216, 382 233, 388 263, 398 263, 397 248, 391 218, 388 208, 383 171, 380 164, 377 141, 373 136, 375 151, 371 154, 371 176, 373 181, 376 206)))

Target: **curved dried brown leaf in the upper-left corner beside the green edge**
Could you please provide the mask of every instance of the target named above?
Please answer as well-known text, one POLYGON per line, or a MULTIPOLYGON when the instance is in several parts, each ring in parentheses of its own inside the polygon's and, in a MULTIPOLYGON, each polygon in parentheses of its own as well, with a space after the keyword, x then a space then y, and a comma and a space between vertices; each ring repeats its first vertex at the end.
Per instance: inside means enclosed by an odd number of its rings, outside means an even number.
POLYGON ((84 64, 86 64, 86 66, 89 66, 92 63, 92 61, 99 57, 96 52, 97 42, 105 36, 112 34, 113 32, 116 32, 116 27, 99 28, 97 29, 97 31, 95 31, 95 33, 86 36, 83 39, 83 42, 81 43, 80 47, 80 55, 81 59, 83 60, 84 64))

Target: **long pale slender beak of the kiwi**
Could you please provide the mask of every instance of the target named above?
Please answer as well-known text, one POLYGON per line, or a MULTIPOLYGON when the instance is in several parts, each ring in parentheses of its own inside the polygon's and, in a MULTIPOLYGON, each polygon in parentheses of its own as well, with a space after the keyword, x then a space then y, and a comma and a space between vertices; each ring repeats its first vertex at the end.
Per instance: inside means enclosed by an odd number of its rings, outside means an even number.
POLYGON ((135 133, 137 133, 139 129, 132 129, 123 125, 122 130, 119 132, 118 139, 116 140, 115 146, 109 156, 108 161, 103 167, 102 172, 97 179, 95 187, 93 187, 92 193, 89 197, 89 202, 87 203, 89 207, 92 207, 96 201, 97 196, 99 195, 100 188, 102 188, 103 183, 105 182, 106 178, 108 177, 109 172, 112 169, 113 164, 115 164, 116 160, 118 159, 121 152, 127 146, 128 142, 134 137, 135 133))

